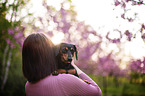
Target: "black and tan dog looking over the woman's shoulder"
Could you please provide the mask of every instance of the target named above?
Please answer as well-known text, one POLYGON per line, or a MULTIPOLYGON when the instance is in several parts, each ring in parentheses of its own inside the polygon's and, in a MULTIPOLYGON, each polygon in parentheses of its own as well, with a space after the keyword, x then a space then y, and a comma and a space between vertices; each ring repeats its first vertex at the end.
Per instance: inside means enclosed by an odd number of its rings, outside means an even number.
POLYGON ((71 65, 72 59, 75 55, 76 60, 77 58, 77 48, 73 44, 69 43, 61 43, 55 46, 55 55, 58 61, 58 72, 59 73, 66 73, 66 74, 73 74, 77 77, 77 71, 71 65))

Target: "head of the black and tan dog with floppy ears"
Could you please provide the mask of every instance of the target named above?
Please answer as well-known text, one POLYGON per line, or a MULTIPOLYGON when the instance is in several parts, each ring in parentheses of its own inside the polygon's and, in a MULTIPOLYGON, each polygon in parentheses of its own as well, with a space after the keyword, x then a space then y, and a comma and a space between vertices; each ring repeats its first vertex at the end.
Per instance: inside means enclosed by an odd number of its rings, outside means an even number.
POLYGON ((77 60, 77 49, 75 45, 68 43, 61 43, 60 45, 56 45, 55 55, 60 56, 62 62, 71 63, 74 54, 77 60))

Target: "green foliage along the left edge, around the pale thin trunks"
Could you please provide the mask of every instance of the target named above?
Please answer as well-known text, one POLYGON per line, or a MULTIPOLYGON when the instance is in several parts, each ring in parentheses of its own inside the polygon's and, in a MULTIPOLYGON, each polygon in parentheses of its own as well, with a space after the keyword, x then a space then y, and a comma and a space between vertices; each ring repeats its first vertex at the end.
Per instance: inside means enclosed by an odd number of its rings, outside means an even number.
POLYGON ((4 61, 4 51, 7 46, 6 39, 14 39, 11 35, 8 34, 8 30, 13 30, 16 26, 21 29, 22 19, 17 21, 16 17, 19 15, 18 12, 23 8, 25 4, 28 3, 29 0, 13 0, 11 3, 10 1, 11 0, 0 1, 0 96, 25 96, 26 80, 22 74, 21 51, 19 45, 16 45, 16 47, 12 49, 12 56, 10 61, 10 67, 8 70, 7 81, 4 89, 1 90, 4 72, 6 72, 8 53, 10 51, 9 46, 8 51, 6 52, 5 64, 2 65, 4 61), (11 14, 10 11, 12 11, 11 14), (9 19, 6 18, 8 14, 9 19))

